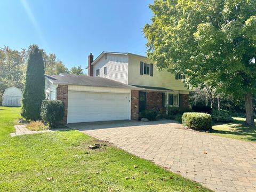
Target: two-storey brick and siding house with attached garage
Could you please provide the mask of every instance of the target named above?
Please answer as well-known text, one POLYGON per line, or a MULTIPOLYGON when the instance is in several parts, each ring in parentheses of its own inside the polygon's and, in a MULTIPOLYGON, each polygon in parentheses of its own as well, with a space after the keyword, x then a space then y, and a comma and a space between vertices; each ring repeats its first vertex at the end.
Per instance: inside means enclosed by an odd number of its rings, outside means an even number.
POLYGON ((146 57, 102 52, 88 56, 88 76, 45 75, 47 99, 65 103, 63 123, 138 119, 145 109, 188 107, 182 75, 158 71, 146 57))

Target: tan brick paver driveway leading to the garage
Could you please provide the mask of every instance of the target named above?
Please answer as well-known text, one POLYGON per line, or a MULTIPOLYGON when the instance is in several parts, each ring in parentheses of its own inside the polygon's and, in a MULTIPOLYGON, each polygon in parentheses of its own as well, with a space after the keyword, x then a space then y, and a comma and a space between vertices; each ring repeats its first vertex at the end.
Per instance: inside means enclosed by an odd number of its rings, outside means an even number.
POLYGON ((256 191, 256 143, 182 129, 172 121, 69 124, 214 191, 256 191))

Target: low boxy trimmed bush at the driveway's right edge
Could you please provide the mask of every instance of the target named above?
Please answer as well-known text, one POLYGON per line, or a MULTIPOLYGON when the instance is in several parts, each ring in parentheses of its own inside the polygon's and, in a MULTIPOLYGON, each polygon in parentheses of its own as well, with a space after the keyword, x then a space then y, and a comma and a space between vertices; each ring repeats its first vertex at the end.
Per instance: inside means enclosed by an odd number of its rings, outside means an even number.
POLYGON ((205 113, 184 113, 182 124, 189 129, 209 131, 212 129, 212 117, 205 113))

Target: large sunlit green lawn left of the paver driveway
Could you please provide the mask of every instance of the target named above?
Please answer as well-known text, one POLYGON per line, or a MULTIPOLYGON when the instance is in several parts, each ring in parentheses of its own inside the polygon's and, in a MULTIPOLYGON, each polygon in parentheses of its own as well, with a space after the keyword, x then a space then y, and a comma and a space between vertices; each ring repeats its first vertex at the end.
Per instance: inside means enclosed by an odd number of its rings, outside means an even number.
POLYGON ((78 131, 11 138, 19 112, 0 107, 0 191, 210 191, 78 131))

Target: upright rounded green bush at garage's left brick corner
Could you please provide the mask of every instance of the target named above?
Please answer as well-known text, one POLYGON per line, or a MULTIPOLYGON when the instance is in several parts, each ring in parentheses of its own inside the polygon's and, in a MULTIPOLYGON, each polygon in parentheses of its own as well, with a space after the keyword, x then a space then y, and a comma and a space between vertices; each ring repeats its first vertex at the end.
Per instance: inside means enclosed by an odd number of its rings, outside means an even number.
POLYGON ((64 117, 64 103, 61 100, 43 100, 41 117, 50 127, 56 127, 64 117))

